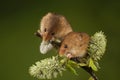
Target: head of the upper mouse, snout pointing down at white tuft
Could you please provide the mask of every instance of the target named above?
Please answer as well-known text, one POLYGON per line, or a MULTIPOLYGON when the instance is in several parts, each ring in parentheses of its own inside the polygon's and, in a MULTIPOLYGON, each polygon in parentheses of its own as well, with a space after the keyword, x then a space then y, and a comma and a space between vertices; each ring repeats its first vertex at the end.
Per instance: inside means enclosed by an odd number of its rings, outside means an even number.
POLYGON ((43 41, 50 41, 54 38, 59 18, 52 13, 48 13, 41 20, 40 30, 43 41))

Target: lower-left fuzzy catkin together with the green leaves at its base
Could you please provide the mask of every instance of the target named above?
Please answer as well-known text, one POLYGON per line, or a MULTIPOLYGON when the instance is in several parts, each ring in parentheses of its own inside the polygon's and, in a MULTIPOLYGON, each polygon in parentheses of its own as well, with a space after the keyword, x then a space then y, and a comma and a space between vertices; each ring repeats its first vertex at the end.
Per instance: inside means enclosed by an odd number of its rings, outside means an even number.
POLYGON ((62 76, 62 72, 66 69, 70 70, 75 75, 78 75, 75 67, 79 68, 79 65, 76 62, 65 57, 59 58, 57 55, 52 58, 37 61, 29 68, 29 73, 31 76, 38 79, 52 79, 56 78, 58 74, 62 76))

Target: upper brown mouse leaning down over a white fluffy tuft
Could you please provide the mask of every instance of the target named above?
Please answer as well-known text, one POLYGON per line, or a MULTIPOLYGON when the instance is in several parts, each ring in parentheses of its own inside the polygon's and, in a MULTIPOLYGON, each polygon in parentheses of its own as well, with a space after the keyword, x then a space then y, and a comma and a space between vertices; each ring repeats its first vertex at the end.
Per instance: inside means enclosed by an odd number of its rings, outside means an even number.
POLYGON ((62 39, 67 33, 72 31, 72 28, 63 16, 48 13, 41 20, 40 30, 43 41, 49 42, 54 41, 55 38, 62 39))

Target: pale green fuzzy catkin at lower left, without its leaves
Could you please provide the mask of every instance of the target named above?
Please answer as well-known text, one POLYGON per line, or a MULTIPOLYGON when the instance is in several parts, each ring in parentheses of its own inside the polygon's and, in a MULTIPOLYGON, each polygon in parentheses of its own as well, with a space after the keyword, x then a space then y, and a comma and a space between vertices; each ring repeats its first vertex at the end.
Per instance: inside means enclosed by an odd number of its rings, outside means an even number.
POLYGON ((62 75, 62 71, 65 67, 60 64, 58 56, 37 61, 29 68, 30 75, 38 79, 56 78, 58 74, 62 75))

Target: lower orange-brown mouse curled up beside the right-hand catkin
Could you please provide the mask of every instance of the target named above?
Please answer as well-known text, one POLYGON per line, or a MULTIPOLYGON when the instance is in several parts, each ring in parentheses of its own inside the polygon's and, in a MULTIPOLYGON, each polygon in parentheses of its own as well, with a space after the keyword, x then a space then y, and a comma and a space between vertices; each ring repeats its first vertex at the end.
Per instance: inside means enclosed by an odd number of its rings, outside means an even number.
POLYGON ((68 58, 84 57, 89 43, 89 36, 86 33, 71 32, 61 43, 60 56, 68 58))

